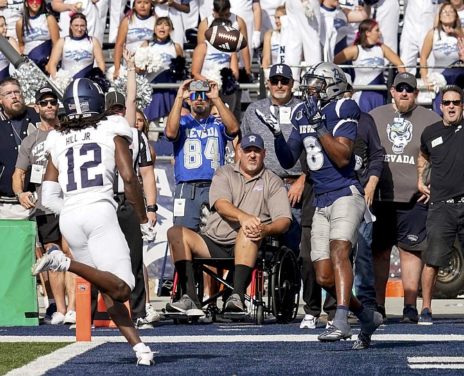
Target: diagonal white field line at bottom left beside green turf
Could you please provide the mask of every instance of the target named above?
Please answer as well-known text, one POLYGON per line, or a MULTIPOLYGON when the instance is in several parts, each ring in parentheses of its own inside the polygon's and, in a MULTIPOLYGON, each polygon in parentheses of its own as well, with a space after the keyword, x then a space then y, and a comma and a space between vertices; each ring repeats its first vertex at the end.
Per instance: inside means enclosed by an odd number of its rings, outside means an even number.
MULTIPOLYGON (((18 337, 19 339, 19 337, 18 337)), ((55 341, 57 342, 57 341, 55 341)), ((48 370, 59 367, 69 359, 77 357, 84 352, 100 346, 102 343, 98 342, 75 342, 71 343, 64 348, 60 348, 54 352, 43 357, 38 357, 34 361, 22 366, 21 368, 15 368, 6 373, 5 376, 39 376, 44 375, 48 370)))

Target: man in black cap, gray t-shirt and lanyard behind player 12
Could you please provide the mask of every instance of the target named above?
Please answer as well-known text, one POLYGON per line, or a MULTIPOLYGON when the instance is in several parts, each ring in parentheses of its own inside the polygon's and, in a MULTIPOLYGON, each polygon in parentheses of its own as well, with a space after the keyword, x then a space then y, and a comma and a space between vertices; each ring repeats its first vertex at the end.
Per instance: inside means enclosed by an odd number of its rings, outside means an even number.
MULTIPOLYGON (((36 111, 40 116, 40 126, 29 134, 21 143, 12 177, 12 187, 17 193, 19 204, 30 210, 35 208, 37 236, 42 244, 41 250, 48 249, 53 244, 60 246, 69 253, 66 242, 62 242, 60 218, 42 206, 42 177, 44 176, 48 159, 44 158, 44 143, 48 134, 58 126, 58 95, 50 86, 41 87, 35 93, 36 111), (35 193, 24 186, 27 172, 30 171, 30 182, 35 183, 35 193), (23 192, 25 190, 26 192, 23 192)), ((44 317, 46 324, 75 324, 75 275, 66 273, 49 273, 51 292, 48 291, 48 308, 44 317), (69 304, 66 308, 64 288, 68 293, 69 304)))

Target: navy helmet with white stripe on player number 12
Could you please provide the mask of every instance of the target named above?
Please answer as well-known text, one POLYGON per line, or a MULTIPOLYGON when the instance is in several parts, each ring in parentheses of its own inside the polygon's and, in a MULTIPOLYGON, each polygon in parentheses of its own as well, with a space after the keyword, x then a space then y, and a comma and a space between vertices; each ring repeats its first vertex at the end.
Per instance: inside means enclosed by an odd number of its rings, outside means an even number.
POLYGON ((92 80, 77 78, 64 91, 63 105, 69 120, 97 116, 105 109, 105 96, 92 80))

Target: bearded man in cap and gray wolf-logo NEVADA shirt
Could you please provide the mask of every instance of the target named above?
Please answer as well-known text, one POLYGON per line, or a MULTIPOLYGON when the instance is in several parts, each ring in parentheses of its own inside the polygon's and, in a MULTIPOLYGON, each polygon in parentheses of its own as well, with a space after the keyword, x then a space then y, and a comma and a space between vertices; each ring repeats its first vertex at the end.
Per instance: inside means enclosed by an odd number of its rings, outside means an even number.
POLYGON ((420 135, 440 117, 416 104, 417 81, 411 73, 398 73, 390 88, 393 103, 373 109, 380 143, 385 150, 384 170, 373 202, 373 265, 377 310, 385 315, 385 288, 389 279, 390 253, 398 245, 404 288, 402 321, 417 323, 416 301, 422 271, 421 252, 427 249, 427 205, 418 191, 416 161, 420 135))

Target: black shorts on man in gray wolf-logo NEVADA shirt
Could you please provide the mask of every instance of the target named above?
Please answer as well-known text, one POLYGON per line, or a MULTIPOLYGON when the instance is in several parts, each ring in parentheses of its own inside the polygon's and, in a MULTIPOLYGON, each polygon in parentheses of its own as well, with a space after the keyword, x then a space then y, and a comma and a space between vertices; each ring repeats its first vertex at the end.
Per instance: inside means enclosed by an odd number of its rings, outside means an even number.
POLYGON ((427 205, 422 202, 374 202, 372 250, 398 245, 406 251, 427 249, 427 205))

